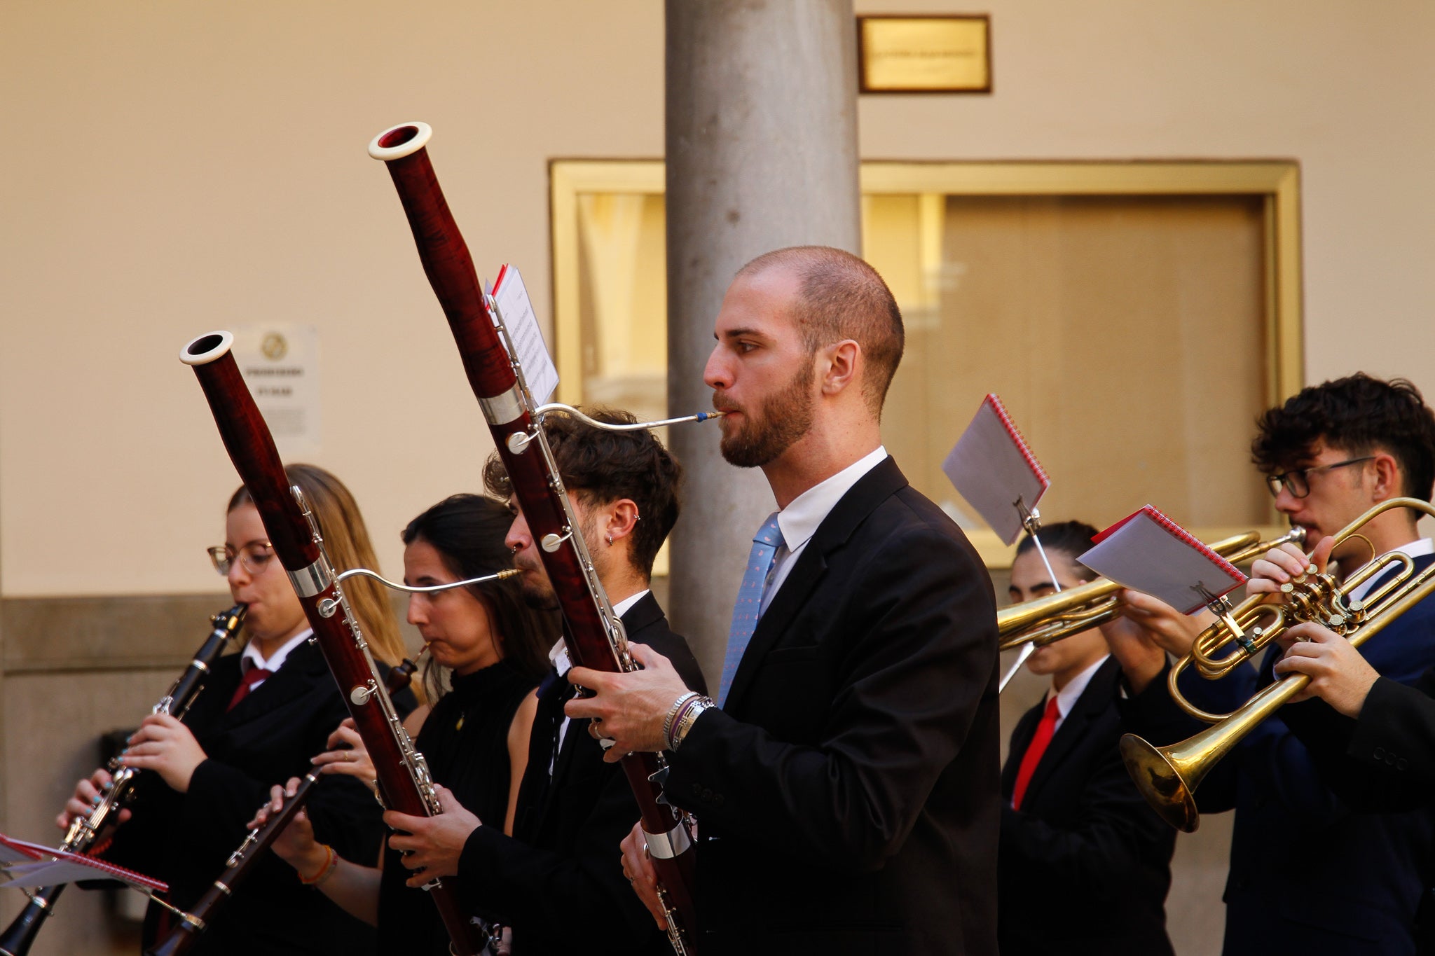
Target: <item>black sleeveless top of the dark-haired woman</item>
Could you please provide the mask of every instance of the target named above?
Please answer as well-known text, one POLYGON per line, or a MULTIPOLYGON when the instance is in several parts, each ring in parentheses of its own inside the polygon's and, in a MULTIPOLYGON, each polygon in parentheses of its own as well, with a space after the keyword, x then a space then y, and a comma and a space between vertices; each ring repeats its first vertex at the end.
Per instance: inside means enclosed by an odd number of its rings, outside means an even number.
MULTIPOLYGON (((429 711, 415 745, 436 783, 453 791, 479 820, 492 821, 502 831, 512 780, 508 731, 534 681, 504 658, 474 674, 451 674, 449 682, 452 689, 429 711)), ((379 883, 379 952, 446 956, 449 935, 439 910, 422 889, 405 886, 410 876, 403 857, 386 843, 379 883)))

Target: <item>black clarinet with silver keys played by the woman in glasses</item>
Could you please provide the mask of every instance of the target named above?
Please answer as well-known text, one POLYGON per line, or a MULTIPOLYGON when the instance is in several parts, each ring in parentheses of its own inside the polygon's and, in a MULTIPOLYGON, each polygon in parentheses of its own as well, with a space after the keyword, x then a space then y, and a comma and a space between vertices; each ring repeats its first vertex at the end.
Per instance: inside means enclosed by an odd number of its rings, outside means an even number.
MULTIPOLYGON (((169 692, 159 698, 159 702, 151 708, 151 714, 169 714, 171 717, 181 718, 188 712, 189 705, 194 704, 199 691, 204 689, 204 682, 210 677, 210 665, 224 651, 224 645, 240 632, 245 609, 244 605, 234 605, 228 611, 210 618, 210 623, 212 625, 210 636, 199 645, 194 659, 189 661, 189 666, 185 668, 179 679, 169 688, 169 692)), ((129 798, 133 795, 135 777, 145 773, 133 767, 121 767, 118 757, 109 761, 109 771, 113 777, 105 787, 105 795, 100 797, 100 801, 95 804, 88 817, 75 817, 70 821, 70 828, 66 831, 60 849, 70 853, 85 853, 89 850, 95 844, 100 830, 105 828, 105 824, 129 803, 129 798)), ((44 924, 44 919, 55 912, 55 900, 59 899, 63 890, 65 884, 60 883, 59 886, 43 886, 30 894, 30 902, 20 910, 20 914, 14 917, 14 922, 10 923, 6 932, 0 935, 0 956, 24 956, 30 952, 34 937, 44 924)))

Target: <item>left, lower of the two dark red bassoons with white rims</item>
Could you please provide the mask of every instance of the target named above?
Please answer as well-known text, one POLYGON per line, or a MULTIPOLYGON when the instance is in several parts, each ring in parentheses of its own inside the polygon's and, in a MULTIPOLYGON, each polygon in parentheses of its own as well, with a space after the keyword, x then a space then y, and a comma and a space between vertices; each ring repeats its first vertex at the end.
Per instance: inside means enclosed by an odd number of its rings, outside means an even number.
MULTIPOLYGON (((369 642, 324 550, 319 522, 304 493, 290 486, 284 476, 268 426, 230 354, 232 345, 234 335, 230 333, 211 333, 185 345, 179 360, 194 368, 230 460, 254 499, 274 553, 304 606, 319 649, 373 760, 380 803, 415 817, 438 816, 441 807, 428 763, 415 750, 379 681, 369 642)), ((478 923, 464 916, 453 887, 432 880, 423 889, 429 890, 439 909, 453 952, 458 956, 479 956, 486 940, 478 923)))

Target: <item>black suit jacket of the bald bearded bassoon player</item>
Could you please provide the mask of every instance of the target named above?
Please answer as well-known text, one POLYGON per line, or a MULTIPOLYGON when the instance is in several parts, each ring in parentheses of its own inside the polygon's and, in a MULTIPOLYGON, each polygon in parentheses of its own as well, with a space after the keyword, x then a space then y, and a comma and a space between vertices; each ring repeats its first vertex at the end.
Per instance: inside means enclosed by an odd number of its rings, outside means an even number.
POLYGON ((703 956, 996 953, 996 642, 976 552, 884 460, 672 755, 703 956))

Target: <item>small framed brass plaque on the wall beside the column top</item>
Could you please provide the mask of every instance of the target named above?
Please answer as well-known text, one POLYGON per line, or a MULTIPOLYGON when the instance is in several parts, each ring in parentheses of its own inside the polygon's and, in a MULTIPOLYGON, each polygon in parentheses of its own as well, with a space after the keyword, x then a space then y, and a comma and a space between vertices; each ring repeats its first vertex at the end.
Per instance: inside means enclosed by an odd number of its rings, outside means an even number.
POLYGON ((990 93, 992 20, 980 16, 857 17, 862 93, 990 93))

